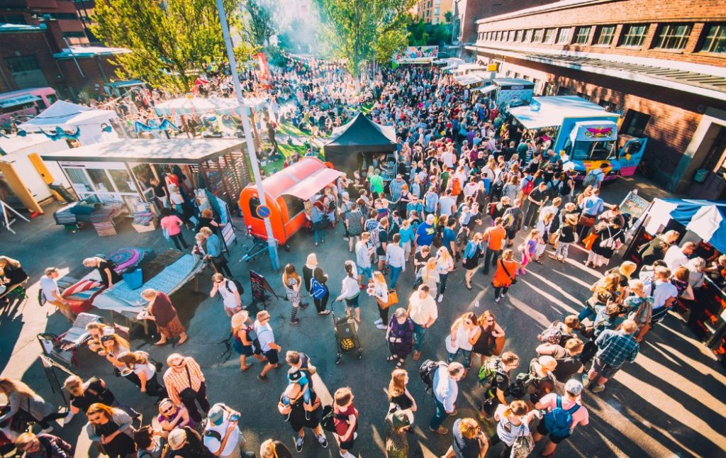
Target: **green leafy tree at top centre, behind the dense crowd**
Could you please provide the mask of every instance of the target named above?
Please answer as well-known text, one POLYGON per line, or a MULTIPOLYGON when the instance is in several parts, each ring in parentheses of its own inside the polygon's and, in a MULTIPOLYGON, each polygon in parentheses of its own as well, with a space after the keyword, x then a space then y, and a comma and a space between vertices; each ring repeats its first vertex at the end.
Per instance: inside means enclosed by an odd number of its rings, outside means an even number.
POLYGON ((385 63, 408 44, 407 12, 415 0, 316 0, 336 57, 360 75, 367 62, 385 63))

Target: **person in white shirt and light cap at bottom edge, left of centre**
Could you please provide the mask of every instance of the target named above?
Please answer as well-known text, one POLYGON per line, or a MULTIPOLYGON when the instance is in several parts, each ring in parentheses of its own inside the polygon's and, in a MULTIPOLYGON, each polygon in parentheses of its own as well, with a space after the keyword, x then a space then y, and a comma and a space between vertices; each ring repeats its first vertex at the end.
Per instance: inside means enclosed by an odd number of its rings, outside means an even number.
POLYGON ((237 427, 239 419, 240 412, 221 403, 214 404, 204 427, 204 446, 217 457, 240 458, 240 441, 244 439, 237 427))

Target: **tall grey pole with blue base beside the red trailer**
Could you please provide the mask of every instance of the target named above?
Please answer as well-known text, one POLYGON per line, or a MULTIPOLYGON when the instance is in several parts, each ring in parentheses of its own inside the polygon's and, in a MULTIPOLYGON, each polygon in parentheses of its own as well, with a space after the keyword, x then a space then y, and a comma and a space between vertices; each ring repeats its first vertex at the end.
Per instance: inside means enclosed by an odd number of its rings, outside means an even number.
MULTIPOLYGON (((247 152, 250 155, 250 163, 252 164, 252 174, 257 187, 257 195, 260 199, 260 205, 267 205, 265 192, 262 188, 262 178, 260 176, 260 166, 257 162, 257 152, 255 151, 255 143, 252 141, 252 128, 250 127, 250 118, 245 107, 245 99, 242 97, 242 84, 240 83, 240 75, 237 73, 237 60, 234 59, 234 48, 232 47, 232 38, 229 36, 229 25, 227 25, 227 13, 224 12, 224 4, 222 0, 216 0, 217 12, 219 12, 219 23, 222 27, 222 36, 224 36, 224 44, 227 46, 227 57, 229 58, 229 70, 232 72, 232 83, 234 83, 234 93, 237 94, 237 102, 240 103, 240 115, 242 115, 242 130, 245 132, 245 144, 247 144, 247 152)), ((267 245, 269 247, 270 261, 272 261, 272 269, 277 271, 280 269, 280 258, 277 256, 277 240, 272 234, 272 224, 269 218, 262 218, 265 222, 265 231, 267 232, 267 245)))

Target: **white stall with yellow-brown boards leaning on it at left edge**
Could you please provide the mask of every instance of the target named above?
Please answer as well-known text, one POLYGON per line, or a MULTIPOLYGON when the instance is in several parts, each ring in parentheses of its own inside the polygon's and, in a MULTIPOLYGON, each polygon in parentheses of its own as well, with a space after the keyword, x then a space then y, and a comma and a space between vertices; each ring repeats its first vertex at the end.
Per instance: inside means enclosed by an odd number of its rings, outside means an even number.
MULTIPOLYGON (((53 142, 42 134, 0 136, 0 199, 13 208, 43 213, 41 203, 49 203, 55 189, 70 187, 56 163, 44 163, 40 154, 68 150, 66 142, 53 142), (6 195, 10 191, 12 195, 6 195)), ((62 190, 61 190, 62 192, 62 190)))

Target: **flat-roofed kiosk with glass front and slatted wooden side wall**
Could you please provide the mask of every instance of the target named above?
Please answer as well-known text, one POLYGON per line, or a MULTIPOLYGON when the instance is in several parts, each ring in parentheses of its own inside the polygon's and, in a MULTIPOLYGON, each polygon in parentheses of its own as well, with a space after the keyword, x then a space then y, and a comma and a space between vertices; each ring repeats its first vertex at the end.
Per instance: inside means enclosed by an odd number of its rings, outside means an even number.
POLYGON ((134 213, 136 204, 154 199, 151 179, 164 181, 165 171, 179 170, 189 189, 206 189, 234 205, 250 182, 236 139, 119 139, 68 151, 41 155, 60 165, 81 199, 123 203, 134 213))

